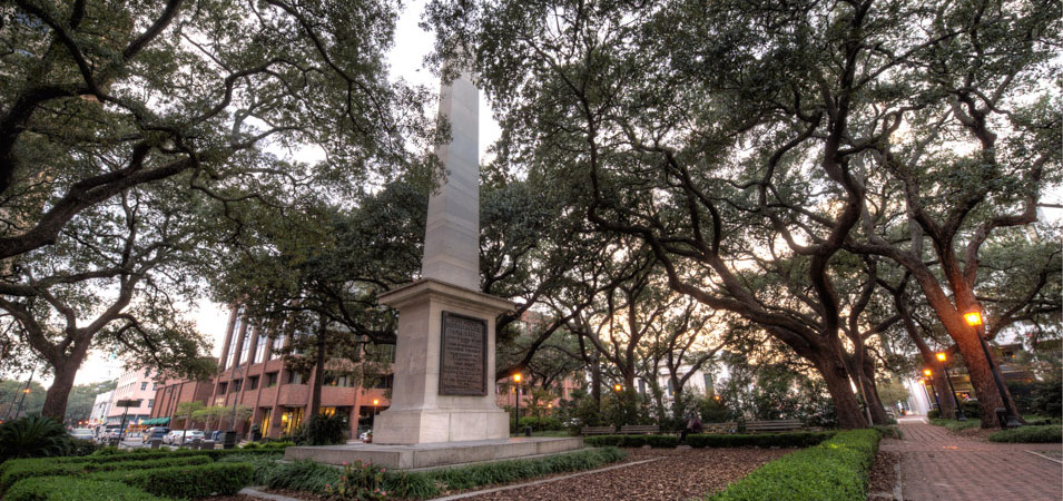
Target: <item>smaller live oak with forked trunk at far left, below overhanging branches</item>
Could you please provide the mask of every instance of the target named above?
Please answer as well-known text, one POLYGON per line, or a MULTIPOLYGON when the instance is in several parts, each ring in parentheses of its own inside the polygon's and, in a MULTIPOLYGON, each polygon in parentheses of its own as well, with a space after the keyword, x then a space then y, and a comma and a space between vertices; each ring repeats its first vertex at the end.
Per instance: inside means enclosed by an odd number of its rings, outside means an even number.
POLYGON ((0 312, 7 336, 52 375, 42 415, 62 419, 90 350, 130 366, 204 375, 210 343, 176 314, 199 294, 200 246, 211 234, 201 195, 170 197, 173 180, 82 210, 49 247, 7 261, 0 312))

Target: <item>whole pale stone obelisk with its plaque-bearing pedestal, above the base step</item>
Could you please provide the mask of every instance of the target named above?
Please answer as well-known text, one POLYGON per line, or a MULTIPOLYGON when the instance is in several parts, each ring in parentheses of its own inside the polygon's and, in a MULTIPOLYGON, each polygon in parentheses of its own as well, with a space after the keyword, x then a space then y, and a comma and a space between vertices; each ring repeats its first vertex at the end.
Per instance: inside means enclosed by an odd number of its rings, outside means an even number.
POLYGON ((376 444, 509 438, 494 397, 494 320, 513 304, 480 292, 478 108, 470 75, 443 85, 440 115, 451 143, 436 150, 446 180, 429 196, 423 278, 380 297, 398 310, 398 340, 376 444))

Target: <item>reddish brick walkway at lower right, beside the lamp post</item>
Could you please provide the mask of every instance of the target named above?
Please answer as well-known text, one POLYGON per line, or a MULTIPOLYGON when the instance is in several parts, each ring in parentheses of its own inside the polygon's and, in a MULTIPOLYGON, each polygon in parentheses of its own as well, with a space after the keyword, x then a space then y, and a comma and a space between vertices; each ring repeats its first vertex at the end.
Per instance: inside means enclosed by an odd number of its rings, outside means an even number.
POLYGON ((905 501, 1060 501, 1063 465, 1026 451, 1059 451, 1061 444, 1004 444, 957 436, 902 419, 904 440, 885 440, 882 450, 900 453, 905 501))

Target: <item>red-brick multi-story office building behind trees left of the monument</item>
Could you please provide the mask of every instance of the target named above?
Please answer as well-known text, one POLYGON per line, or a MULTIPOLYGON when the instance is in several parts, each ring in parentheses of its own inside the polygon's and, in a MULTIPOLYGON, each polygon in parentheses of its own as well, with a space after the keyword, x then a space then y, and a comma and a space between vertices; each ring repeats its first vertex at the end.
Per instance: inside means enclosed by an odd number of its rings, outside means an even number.
MULTIPOLYGON (((240 308, 233 308, 229 314, 218 361, 219 374, 210 381, 209 394, 204 403, 250 409, 250 416, 236 423, 240 434, 255 428, 263 436, 275 438, 291 433, 308 418, 308 382, 314 380, 315 374, 312 371, 304 377, 284 365, 278 352, 291 341, 289 335, 252 325, 240 308)), ((360 428, 372 424, 375 412, 387 409, 390 402, 385 391, 390 387, 392 376, 376 377, 371 381, 372 387, 363 387, 347 372, 334 370, 339 364, 338 361, 326 364, 321 407, 324 413, 343 415, 348 424, 350 436, 357 436, 360 428)), ((171 382, 167 382, 166 387, 171 386, 171 382)), ((186 391, 177 397, 160 392, 157 399, 167 401, 168 411, 160 409, 152 418, 171 416, 178 402, 199 400, 199 390, 186 391)))

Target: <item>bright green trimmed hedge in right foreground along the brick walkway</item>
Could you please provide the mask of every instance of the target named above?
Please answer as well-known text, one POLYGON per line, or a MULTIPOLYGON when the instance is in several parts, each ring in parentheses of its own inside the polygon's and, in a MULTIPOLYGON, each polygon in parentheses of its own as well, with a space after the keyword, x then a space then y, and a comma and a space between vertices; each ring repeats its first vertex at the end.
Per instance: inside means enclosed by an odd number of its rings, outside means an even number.
POLYGON ((816 500, 863 501, 882 435, 875 430, 839 432, 758 468, 711 501, 816 500))

